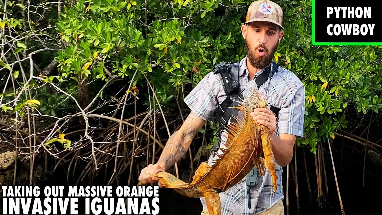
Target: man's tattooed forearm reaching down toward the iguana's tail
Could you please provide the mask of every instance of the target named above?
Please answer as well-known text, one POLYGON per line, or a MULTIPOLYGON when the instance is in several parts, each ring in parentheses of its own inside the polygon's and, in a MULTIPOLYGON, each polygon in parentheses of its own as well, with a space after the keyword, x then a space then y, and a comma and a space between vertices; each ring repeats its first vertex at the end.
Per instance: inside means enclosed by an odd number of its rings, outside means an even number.
POLYGON ((203 123, 203 121, 191 113, 181 129, 171 135, 158 160, 158 164, 162 166, 162 168, 167 170, 186 154, 191 141, 201 127, 201 123, 203 123))

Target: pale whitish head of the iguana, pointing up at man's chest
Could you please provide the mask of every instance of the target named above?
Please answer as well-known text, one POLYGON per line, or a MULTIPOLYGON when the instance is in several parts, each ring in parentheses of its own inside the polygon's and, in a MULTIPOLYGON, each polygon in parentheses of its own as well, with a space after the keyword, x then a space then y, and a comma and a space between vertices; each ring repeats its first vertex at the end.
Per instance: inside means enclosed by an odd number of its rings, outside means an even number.
POLYGON ((254 80, 248 82, 247 87, 243 91, 243 99, 246 111, 253 111, 255 108, 267 108, 269 103, 259 93, 254 80))

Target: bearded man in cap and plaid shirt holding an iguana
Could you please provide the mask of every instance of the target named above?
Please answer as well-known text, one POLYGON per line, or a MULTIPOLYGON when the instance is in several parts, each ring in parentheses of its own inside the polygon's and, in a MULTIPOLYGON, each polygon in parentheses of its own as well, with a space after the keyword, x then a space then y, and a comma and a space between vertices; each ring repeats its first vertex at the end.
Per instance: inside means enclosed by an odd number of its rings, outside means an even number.
MULTIPOLYGON (((284 34, 282 15, 281 7, 269 0, 255 1, 249 6, 246 22, 241 26, 247 55, 239 66, 240 91, 249 80, 256 80, 272 64, 274 53, 284 34)), ((142 169, 139 181, 154 182, 154 174, 166 171, 185 155, 199 128, 212 117, 226 98, 219 78, 220 74, 210 72, 186 96, 185 103, 191 113, 181 128, 169 138, 158 162, 142 169)), ((272 106, 280 108, 277 118, 269 109, 259 108, 251 113, 253 120, 269 127, 272 132, 272 150, 277 163, 277 191, 273 193, 268 169, 258 179, 258 184, 251 187, 250 196, 247 193, 246 178, 243 178, 238 184, 219 194, 222 215, 284 214, 281 167, 291 161, 296 137, 303 137, 305 88, 293 72, 278 67, 274 75, 259 87, 259 91, 272 106), (267 85, 269 88, 265 91, 267 85)), ((217 156, 211 155, 209 161, 216 158, 217 156)), ((201 202, 204 206, 202 214, 207 215, 205 199, 201 198, 201 202)))

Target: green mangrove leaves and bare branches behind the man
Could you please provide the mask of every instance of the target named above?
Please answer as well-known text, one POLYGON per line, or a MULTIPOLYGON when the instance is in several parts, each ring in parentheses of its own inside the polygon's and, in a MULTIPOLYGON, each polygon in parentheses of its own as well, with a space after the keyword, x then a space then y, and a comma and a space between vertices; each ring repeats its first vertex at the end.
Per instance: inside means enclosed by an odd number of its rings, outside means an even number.
MULTIPOLYGON (((369 150, 380 155, 378 133, 369 135, 368 129, 378 122, 375 119, 382 107, 382 46, 312 46, 311 1, 275 2, 284 10, 285 35, 274 60, 294 72, 305 85, 305 137, 297 140, 297 146, 314 153, 318 162, 317 181, 322 167, 316 155, 325 153, 322 149, 320 152, 319 145, 332 144, 336 136, 346 136, 347 140, 359 143, 357 147, 364 152, 365 146, 371 144, 369 150)), ((144 161, 154 162, 157 157, 150 151, 159 156, 161 148, 149 143, 147 148, 137 148, 142 145, 143 133, 139 138, 125 123, 109 118, 106 123, 102 121, 106 118, 99 115, 123 119, 134 127, 141 122, 146 134, 157 137, 164 145, 188 114, 182 102, 188 92, 217 62, 245 56, 240 26, 250 3, 248 0, 3 1, 1 10, 6 12, 0 19, 3 89, 0 106, 3 124, 16 135, 16 145, 38 146, 28 148, 29 153, 19 148, 24 160, 32 159, 33 163, 35 149, 46 147, 45 156, 48 156, 46 151, 52 151, 49 156, 57 158, 54 169, 59 166, 57 160, 75 155, 76 161, 72 159, 68 163, 75 164, 78 158, 90 161, 84 167, 94 178, 98 174, 94 162, 97 157, 100 163, 110 159, 109 182, 114 179, 118 182, 118 177, 123 175, 119 171, 126 172, 129 184, 136 181, 132 174, 138 174, 135 171, 145 166, 144 161), (157 112, 149 112, 146 121, 134 117, 152 109, 157 112), (75 113, 78 115, 73 116, 75 113), (153 122, 158 126, 153 126, 153 122), (26 134, 18 133, 19 129, 24 129, 26 134), (105 133, 97 129, 112 131, 105 133), (102 145, 100 137, 105 135, 117 144, 102 145), (94 142, 90 136, 100 140, 94 142), (55 145, 48 150, 54 142, 64 147, 55 145), (109 154, 98 153, 102 147, 109 154), (113 156, 116 152, 125 157, 113 156), (136 168, 128 155, 140 153, 146 160, 137 157, 141 166, 136 168)), ((199 148, 210 147, 214 142, 216 126, 215 120, 208 122, 189 150, 191 157, 183 159, 191 159, 191 174, 202 156, 199 148)), ((150 139, 147 135, 144 138, 143 142, 150 139)), ((31 166, 32 176, 34 165, 31 166)), ((174 171, 179 174, 177 167, 174 171)), ((81 177, 83 180, 83 174, 81 177)), ((318 186, 320 196, 322 187, 318 186)))

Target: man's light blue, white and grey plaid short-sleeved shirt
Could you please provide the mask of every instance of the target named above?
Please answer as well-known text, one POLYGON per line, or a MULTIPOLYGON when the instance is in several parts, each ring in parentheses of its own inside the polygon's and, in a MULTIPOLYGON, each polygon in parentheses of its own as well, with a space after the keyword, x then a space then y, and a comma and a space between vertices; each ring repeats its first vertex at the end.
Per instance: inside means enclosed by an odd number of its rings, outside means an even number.
MULTIPOLYGON (((249 79, 248 69, 246 67, 247 56, 240 61, 239 83, 240 91, 244 90, 249 79)), ((264 69, 257 72, 256 79, 264 69)), ((218 106, 226 98, 223 86, 219 81, 220 75, 214 75, 213 72, 204 77, 200 83, 184 99, 188 107, 196 116, 201 119, 209 120, 217 110, 218 106)), ((264 98, 268 99, 271 105, 280 108, 278 124, 276 127, 277 135, 281 133, 293 134, 303 137, 304 112, 305 112, 305 88, 299 78, 291 71, 278 67, 272 79, 267 80, 259 88, 259 92, 264 98), (265 94, 265 86, 269 84, 269 90, 265 94)), ((240 117, 240 112, 239 116, 240 117)), ((222 142, 226 140, 226 133, 222 134, 222 142)), ((223 144, 220 145, 223 147, 223 144)), ((218 154, 222 151, 219 150, 218 154)), ((217 159, 217 156, 211 155, 210 161, 217 159)), ((253 215, 262 213, 272 207, 278 200, 284 198, 282 186, 282 168, 276 163, 277 191, 272 193, 272 178, 270 172, 266 169, 265 175, 258 179, 257 186, 251 186, 251 208, 248 208, 248 194, 246 178, 244 177, 238 184, 225 192, 221 192, 221 210, 222 215, 242 214, 253 215)), ((204 197, 201 198, 202 205, 206 207, 204 197)))

